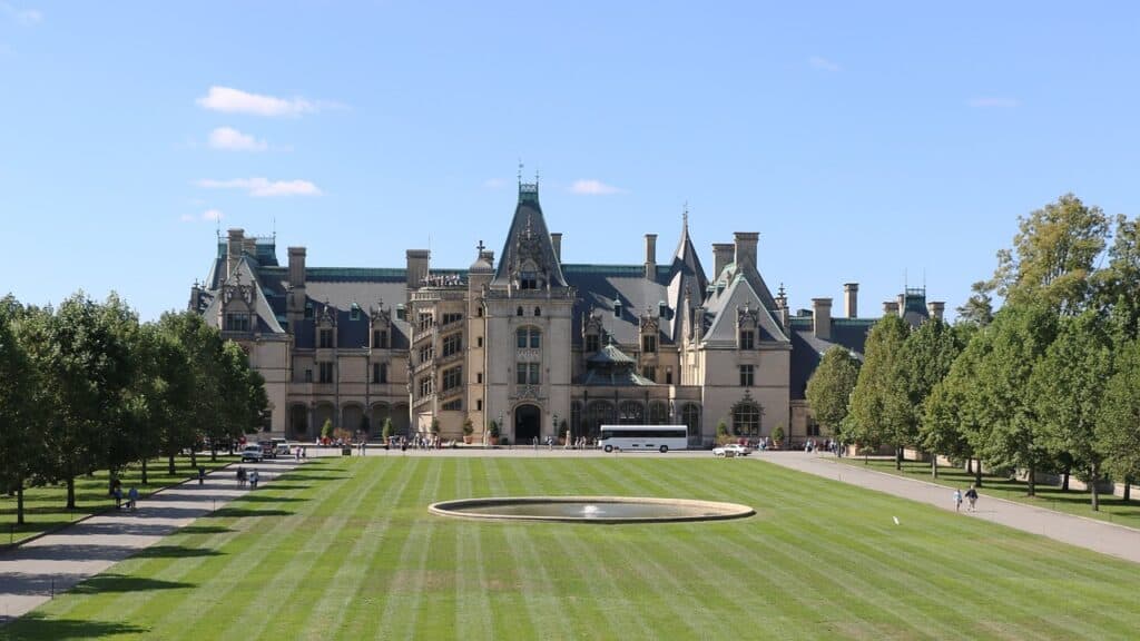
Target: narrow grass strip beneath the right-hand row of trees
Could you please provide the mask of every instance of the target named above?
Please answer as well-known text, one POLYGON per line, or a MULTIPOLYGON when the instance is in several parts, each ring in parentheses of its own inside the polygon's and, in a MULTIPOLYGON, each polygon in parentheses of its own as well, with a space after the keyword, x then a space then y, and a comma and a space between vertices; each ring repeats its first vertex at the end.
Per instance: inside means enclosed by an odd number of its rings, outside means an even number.
MULTIPOLYGON (((863 459, 849 457, 840 461, 849 465, 863 465, 863 459)), ((959 468, 938 468, 938 478, 930 476, 930 464, 917 461, 903 461, 902 471, 895 470, 895 461, 886 459, 871 459, 870 466, 880 472, 888 472, 907 478, 925 480, 950 488, 966 488, 974 482, 974 474, 968 474, 959 468)), ((1068 490, 1061 492, 1058 486, 1037 484, 1036 496, 1027 496, 1025 481, 1010 480, 1008 477, 982 476, 982 488, 978 494, 985 501, 985 496, 996 496, 1007 501, 1017 501, 1027 505, 1036 505, 1059 512, 1080 514, 1104 521, 1110 521, 1129 527, 1140 528, 1140 496, 1133 496, 1132 501, 1125 503, 1119 496, 1110 494, 1100 495, 1100 512, 1093 512, 1091 508, 1092 495, 1088 492, 1068 490)))

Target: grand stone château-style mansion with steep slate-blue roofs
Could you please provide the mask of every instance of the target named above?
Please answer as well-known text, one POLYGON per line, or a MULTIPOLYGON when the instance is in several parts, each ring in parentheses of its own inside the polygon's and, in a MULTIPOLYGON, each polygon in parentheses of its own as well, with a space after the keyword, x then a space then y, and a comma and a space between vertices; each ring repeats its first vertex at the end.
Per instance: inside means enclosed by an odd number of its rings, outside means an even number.
MULTIPOLYGON (((511 444, 592 437, 602 424, 685 424, 691 446, 717 425, 752 437, 783 425, 792 443, 820 436, 804 398, 822 355, 861 355, 878 318, 857 316, 858 286, 793 313, 756 267, 759 234, 714 243, 705 271, 687 214, 676 250, 657 235, 632 265, 562 261, 537 184, 520 184, 497 260, 479 243, 466 269, 408 250, 400 268, 310 267, 304 248, 277 260, 275 238, 230 229, 189 307, 238 341, 266 379, 275 436, 311 439, 331 422, 482 441, 490 422, 511 444)), ((883 305, 912 324, 943 303, 906 290, 883 305)))

